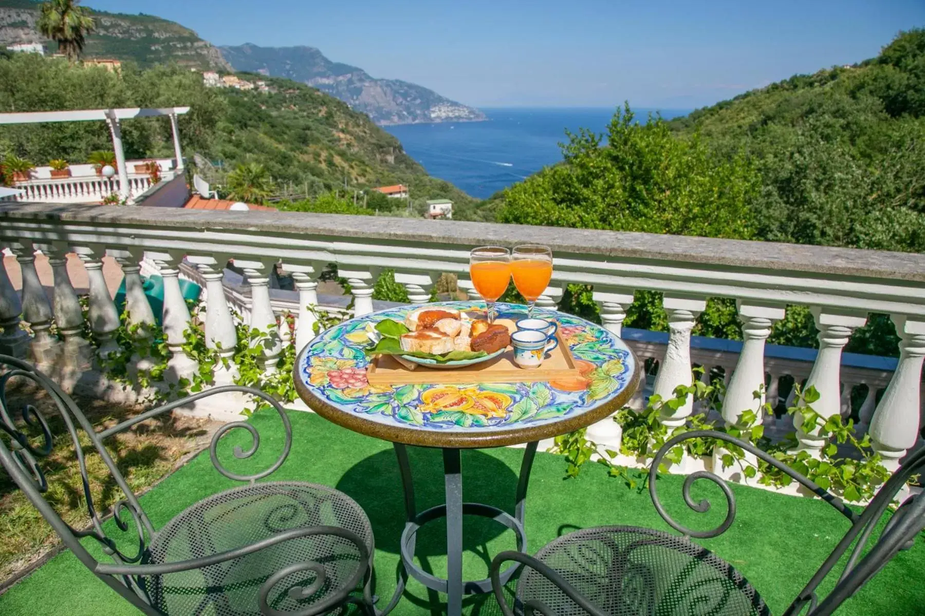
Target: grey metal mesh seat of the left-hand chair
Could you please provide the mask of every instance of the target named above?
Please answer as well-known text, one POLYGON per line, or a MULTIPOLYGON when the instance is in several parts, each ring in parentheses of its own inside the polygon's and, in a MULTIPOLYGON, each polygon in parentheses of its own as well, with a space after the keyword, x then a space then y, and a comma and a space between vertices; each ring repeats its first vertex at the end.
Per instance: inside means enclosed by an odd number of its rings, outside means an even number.
MULTIPOLYGON (((179 513, 157 533, 148 562, 200 558, 316 525, 346 528, 373 553, 369 519, 346 494, 309 483, 266 482, 229 489, 179 513)), ((305 597, 302 590, 312 586, 316 574, 286 575, 270 592, 270 608, 305 610, 343 589, 357 568, 364 566, 359 550, 346 538, 299 537, 202 569, 152 576, 147 578, 146 589, 154 607, 165 614, 260 614, 258 595, 267 578, 304 562, 320 563, 325 582, 305 597)))

